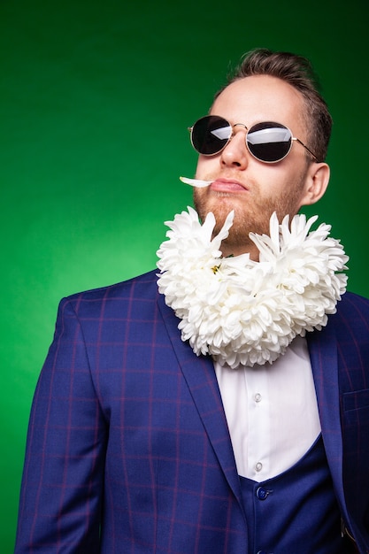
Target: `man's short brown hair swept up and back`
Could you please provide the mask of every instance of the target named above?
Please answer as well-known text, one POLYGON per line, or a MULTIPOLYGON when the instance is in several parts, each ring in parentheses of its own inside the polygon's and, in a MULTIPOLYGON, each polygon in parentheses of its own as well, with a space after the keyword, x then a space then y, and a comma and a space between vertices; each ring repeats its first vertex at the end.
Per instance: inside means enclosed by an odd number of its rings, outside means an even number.
MULTIPOLYGON (((308 146, 318 158, 317 161, 324 161, 332 130, 332 118, 327 103, 319 93, 319 81, 311 62, 290 52, 251 50, 245 54, 240 65, 228 78, 226 87, 234 81, 251 75, 277 77, 288 82, 301 93, 305 106, 304 118, 308 126, 308 146)), ((224 88, 217 93, 216 97, 224 88)))

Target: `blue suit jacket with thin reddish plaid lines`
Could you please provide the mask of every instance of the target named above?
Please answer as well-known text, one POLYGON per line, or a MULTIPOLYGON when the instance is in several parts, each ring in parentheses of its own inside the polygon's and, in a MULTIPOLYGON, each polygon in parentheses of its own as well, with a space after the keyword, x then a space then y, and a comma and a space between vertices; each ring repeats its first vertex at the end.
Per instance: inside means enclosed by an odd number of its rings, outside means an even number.
MULTIPOLYGON (((342 518, 369 550, 369 301, 346 293, 311 353, 342 518)), ((247 522, 211 358, 155 272, 59 306, 35 391, 16 554, 240 554, 247 522)))

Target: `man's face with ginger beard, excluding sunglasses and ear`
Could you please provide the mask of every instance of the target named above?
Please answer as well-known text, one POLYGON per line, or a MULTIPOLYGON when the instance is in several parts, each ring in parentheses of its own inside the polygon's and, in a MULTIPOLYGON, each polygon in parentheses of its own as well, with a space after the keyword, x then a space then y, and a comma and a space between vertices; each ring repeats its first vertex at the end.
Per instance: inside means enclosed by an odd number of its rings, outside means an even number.
MULTIPOLYGON (((276 121, 307 143, 303 98, 295 88, 274 77, 255 75, 235 81, 215 100, 211 114, 248 128, 262 121, 276 121)), ((244 127, 234 127, 234 136, 224 150, 210 157, 199 156, 196 179, 215 181, 205 189, 195 189, 194 201, 201 219, 208 212, 214 213, 217 232, 234 210, 234 226, 223 243, 223 254, 250 251, 250 256, 257 258, 248 237, 250 231, 269 233, 274 211, 281 221, 284 215, 292 217, 302 205, 311 204, 307 201, 311 164, 306 150, 296 141, 280 162, 258 161, 247 150, 245 134, 244 127)))

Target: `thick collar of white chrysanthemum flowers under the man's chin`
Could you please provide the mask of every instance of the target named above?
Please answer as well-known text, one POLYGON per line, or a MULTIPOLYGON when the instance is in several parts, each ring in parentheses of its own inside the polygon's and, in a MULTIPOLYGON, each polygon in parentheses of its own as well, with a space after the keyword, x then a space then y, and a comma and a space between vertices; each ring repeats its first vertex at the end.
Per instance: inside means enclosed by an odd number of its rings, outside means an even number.
POLYGON ((327 325, 327 314, 346 290, 348 257, 328 237, 330 226, 296 215, 289 230, 275 213, 270 236, 251 233, 259 261, 249 254, 222 258, 220 244, 232 227, 234 212, 214 238, 215 218, 201 225, 196 211, 177 214, 169 238, 158 250, 158 289, 181 319, 182 341, 197 356, 210 354, 221 365, 273 363, 296 335, 327 325))

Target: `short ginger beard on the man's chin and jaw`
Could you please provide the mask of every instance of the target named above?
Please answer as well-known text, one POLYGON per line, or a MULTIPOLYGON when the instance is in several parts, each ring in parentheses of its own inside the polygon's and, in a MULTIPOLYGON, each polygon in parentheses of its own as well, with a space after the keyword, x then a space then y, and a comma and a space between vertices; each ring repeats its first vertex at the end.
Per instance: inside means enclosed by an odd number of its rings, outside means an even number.
POLYGON ((269 235, 269 221, 273 212, 277 213, 279 222, 285 215, 292 218, 300 208, 304 187, 304 177, 301 176, 295 186, 291 186, 288 194, 286 190, 278 196, 263 197, 256 187, 253 192, 246 195, 234 195, 232 193, 212 191, 206 189, 194 190, 194 204, 199 218, 204 222, 206 215, 212 212, 216 219, 213 235, 218 235, 229 212, 234 210, 234 224, 229 229, 227 239, 222 242, 222 247, 228 253, 241 253, 255 250, 255 244, 250 240, 249 234, 269 235), (246 196, 246 197, 245 197, 246 196))

